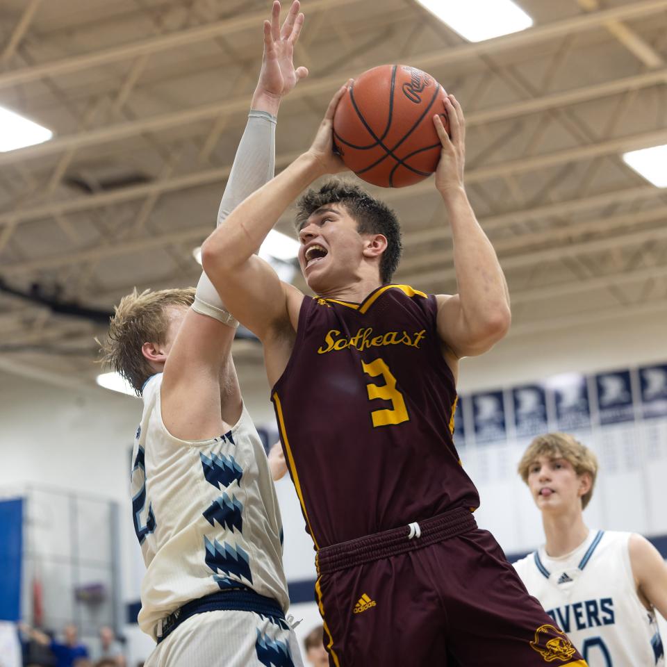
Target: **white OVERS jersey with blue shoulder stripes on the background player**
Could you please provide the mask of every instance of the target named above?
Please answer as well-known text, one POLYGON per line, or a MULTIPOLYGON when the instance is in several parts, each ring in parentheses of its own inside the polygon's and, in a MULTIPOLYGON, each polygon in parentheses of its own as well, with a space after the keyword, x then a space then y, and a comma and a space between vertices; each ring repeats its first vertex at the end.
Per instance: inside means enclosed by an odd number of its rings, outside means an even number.
POLYGON ((514 563, 589 667, 664 666, 655 614, 644 607, 630 566, 630 533, 591 531, 572 553, 544 547, 514 563))

